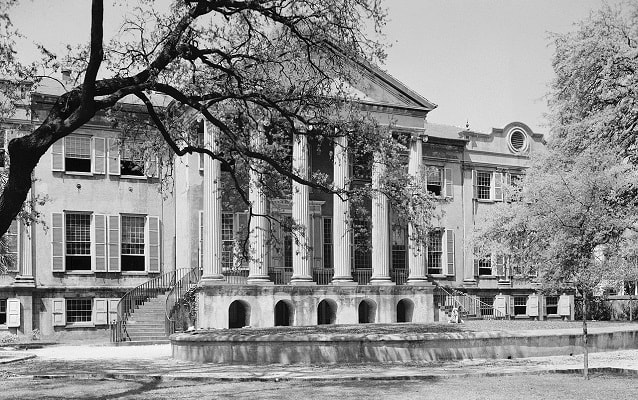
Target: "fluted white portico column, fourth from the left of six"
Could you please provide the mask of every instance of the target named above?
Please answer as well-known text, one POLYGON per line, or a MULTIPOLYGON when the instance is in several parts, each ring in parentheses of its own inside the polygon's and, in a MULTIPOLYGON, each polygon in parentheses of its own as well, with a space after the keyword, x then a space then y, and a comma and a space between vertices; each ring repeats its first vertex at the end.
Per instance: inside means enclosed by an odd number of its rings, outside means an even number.
MULTIPOLYGON (((347 189, 350 180, 348 166, 348 138, 335 138, 333 179, 334 188, 338 191, 347 189)), ((332 242, 334 248, 333 284, 353 284, 350 251, 352 238, 350 224, 350 200, 347 197, 332 195, 332 242)))

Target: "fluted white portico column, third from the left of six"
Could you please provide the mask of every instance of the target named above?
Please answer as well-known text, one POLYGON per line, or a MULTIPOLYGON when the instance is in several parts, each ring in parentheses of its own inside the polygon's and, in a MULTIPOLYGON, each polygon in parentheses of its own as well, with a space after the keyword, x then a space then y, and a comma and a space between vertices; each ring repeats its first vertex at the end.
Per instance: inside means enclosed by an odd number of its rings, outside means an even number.
MULTIPOLYGON (((308 137, 295 134, 292 143, 292 169, 302 179, 308 179, 308 137)), ((292 241, 292 285, 314 284, 308 257, 310 210, 308 186, 292 181, 292 219, 295 224, 292 241)))

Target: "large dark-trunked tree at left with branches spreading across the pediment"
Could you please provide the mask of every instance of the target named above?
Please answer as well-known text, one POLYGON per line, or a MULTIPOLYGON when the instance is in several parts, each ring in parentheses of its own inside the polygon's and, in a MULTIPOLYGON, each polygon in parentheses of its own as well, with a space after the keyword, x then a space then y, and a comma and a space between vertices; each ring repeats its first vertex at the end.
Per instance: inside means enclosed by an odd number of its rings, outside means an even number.
MULTIPOLYGON (((291 133, 318 144, 348 136, 355 152, 382 152, 387 170, 399 168, 396 155, 405 147, 362 112, 353 90, 362 71, 374 69, 384 57, 378 39, 385 22, 380 0, 181 0, 166 13, 153 0, 140 0, 108 42, 103 0, 93 0, 89 45, 69 49, 64 58, 41 48, 43 60, 34 65, 21 64, 13 49, 16 32, 8 10, 15 2, 0 6, 5 38, 0 53, 6 56, 0 74, 14 79, 6 83, 7 98, 15 100, 25 82, 35 87, 46 79, 42 68, 70 67, 75 83, 64 86, 40 126, 9 144, 0 234, 23 204, 40 157, 98 114, 110 117, 125 134, 143 131, 156 144, 161 138, 179 156, 205 153, 219 160, 246 202, 241 183, 255 160, 264 165, 260 183, 268 190, 281 192, 295 180, 343 196, 361 193, 361 187, 339 192, 322 174, 295 174, 286 146, 291 133), (172 100, 171 106, 159 107, 157 96, 172 100), (145 109, 137 121, 128 120, 124 108, 132 98, 145 109), (184 124, 184 116, 193 112, 218 131, 219 150, 197 143, 184 124), (265 137, 259 146, 251 141, 256 132, 265 137), (288 179, 272 178, 282 176, 288 179)), ((391 200, 420 187, 401 179, 392 183, 388 178, 384 185, 391 200), (389 190, 393 187, 400 190, 389 190)), ((423 203, 419 196, 410 198, 414 202, 397 202, 399 208, 423 203)))

